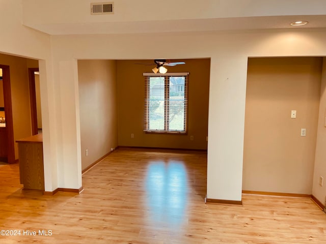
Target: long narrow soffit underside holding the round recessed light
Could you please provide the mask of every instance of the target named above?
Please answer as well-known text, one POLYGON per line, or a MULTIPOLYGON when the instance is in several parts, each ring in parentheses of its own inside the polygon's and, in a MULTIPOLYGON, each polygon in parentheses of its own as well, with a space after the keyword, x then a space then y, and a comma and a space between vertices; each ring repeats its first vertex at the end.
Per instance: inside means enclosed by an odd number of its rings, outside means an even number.
POLYGON ((30 24, 29 27, 50 35, 135 34, 168 32, 207 32, 240 29, 326 28, 326 15, 267 16, 189 20, 154 20, 100 23, 30 24), (304 26, 291 26, 297 20, 309 21, 304 26))

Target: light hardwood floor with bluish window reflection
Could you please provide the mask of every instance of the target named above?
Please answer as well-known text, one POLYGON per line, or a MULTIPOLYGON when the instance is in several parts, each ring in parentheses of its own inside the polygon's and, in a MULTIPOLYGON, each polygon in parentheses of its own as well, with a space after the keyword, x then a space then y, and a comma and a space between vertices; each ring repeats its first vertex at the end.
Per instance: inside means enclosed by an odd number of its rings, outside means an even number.
POLYGON ((206 161, 200 152, 121 148, 83 175, 84 192, 55 196, 22 190, 18 166, 0 166, 0 229, 21 230, 0 243, 326 243, 326 215, 310 199, 205 204, 206 161))

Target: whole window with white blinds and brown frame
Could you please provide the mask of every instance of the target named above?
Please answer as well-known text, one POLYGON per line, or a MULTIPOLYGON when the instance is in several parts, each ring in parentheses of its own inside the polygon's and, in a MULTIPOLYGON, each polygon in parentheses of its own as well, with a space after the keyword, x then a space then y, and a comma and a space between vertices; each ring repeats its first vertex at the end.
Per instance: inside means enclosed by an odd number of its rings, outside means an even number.
POLYGON ((145 76, 146 132, 187 132, 188 73, 145 76))

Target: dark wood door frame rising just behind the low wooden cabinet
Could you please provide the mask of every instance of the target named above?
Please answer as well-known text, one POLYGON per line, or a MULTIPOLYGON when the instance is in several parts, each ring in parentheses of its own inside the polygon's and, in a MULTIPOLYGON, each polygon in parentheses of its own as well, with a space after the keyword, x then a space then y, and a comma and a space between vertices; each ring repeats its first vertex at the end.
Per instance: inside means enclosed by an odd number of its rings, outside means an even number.
POLYGON ((39 68, 29 68, 29 86, 30 86, 30 103, 31 103, 31 120, 32 120, 32 135, 38 134, 37 128, 37 109, 36 109, 36 92, 35 92, 35 74, 39 68))

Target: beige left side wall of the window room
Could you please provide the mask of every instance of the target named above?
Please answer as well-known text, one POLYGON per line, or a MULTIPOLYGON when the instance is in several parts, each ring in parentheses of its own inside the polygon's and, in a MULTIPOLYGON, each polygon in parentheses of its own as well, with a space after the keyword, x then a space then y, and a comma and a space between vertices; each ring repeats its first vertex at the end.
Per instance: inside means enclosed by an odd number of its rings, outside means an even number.
POLYGON ((82 169, 118 145, 116 69, 114 60, 78 60, 82 169))

